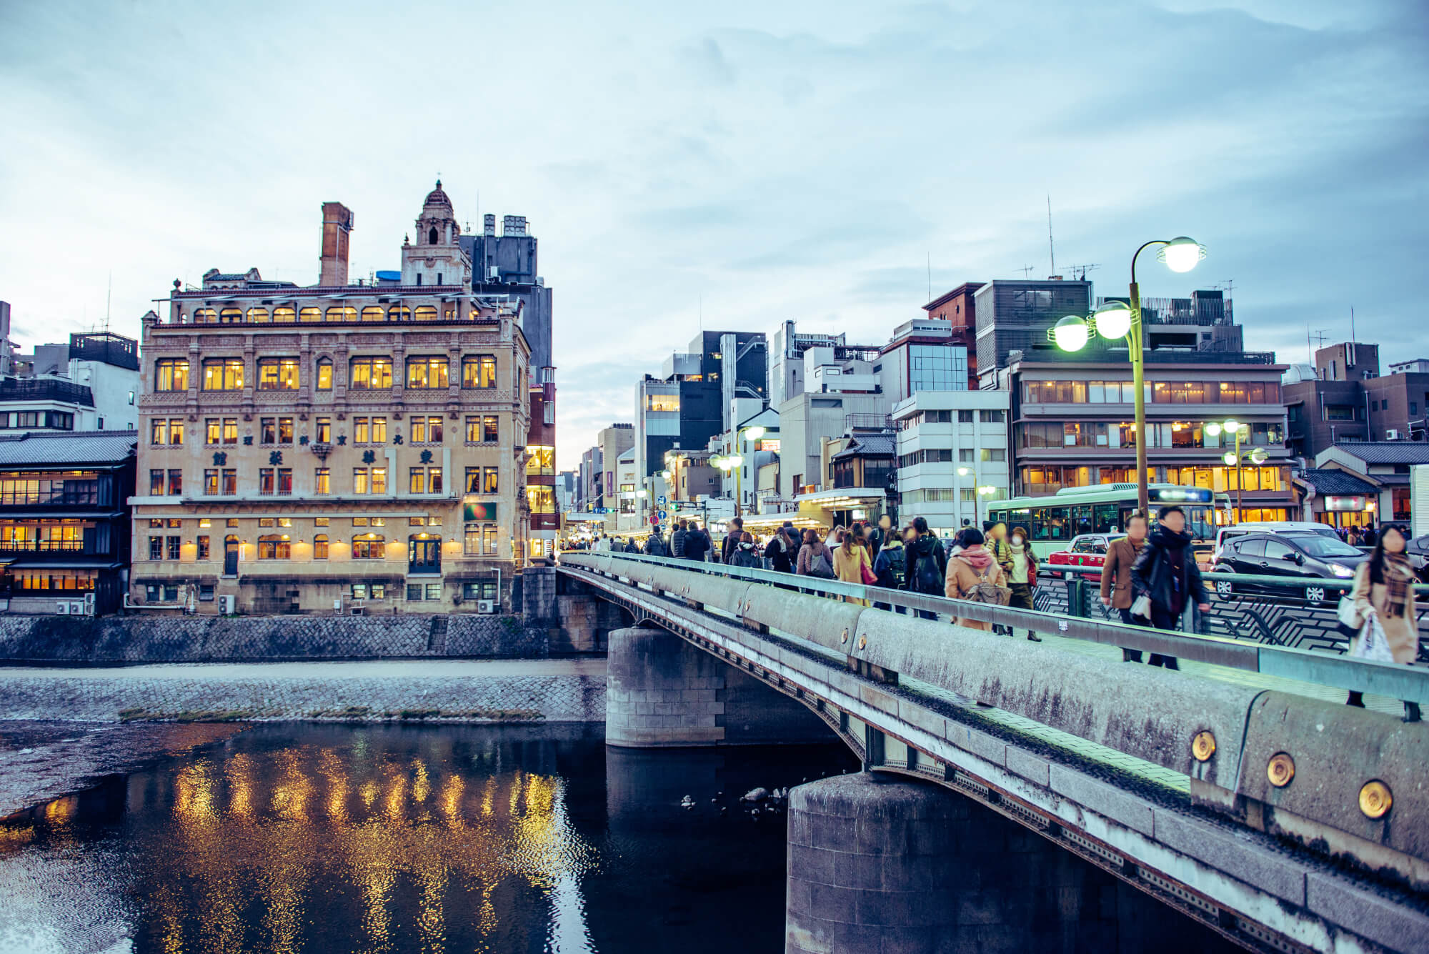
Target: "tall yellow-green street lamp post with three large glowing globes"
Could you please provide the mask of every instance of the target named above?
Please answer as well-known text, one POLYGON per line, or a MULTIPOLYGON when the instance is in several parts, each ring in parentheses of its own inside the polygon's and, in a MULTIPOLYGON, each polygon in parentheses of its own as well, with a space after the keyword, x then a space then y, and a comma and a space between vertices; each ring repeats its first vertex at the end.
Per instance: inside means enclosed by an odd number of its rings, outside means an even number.
POLYGON ((1136 507, 1142 513, 1150 510, 1150 490, 1146 480, 1146 360, 1142 350, 1142 293, 1136 283, 1136 260, 1152 246, 1162 246, 1156 257, 1172 271, 1190 271, 1206 257, 1206 248, 1186 236, 1143 243, 1132 256, 1129 304, 1107 301, 1089 317, 1072 314, 1047 328, 1047 337, 1063 351, 1080 351, 1092 331, 1109 340, 1126 338, 1135 388, 1132 400, 1136 413, 1136 507))

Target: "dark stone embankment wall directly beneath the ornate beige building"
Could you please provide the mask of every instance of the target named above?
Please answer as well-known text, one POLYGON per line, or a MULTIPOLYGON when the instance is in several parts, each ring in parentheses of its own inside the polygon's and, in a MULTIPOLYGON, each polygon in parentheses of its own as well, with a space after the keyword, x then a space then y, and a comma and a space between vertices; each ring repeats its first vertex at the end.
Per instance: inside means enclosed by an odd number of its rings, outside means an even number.
POLYGON ((549 653, 550 630, 513 616, 0 617, 0 660, 9 661, 537 658, 549 653))

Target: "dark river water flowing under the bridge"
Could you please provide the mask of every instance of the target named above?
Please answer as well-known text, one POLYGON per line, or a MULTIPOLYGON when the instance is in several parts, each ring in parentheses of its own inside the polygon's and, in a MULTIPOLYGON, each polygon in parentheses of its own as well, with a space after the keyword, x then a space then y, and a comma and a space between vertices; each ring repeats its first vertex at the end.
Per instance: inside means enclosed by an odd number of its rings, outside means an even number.
MULTIPOLYGON (((259 725, 0 824, 0 953, 782 951, 785 817, 737 797, 856 768, 599 725, 259 725)), ((985 808, 960 844, 956 950, 1229 950, 985 808)))

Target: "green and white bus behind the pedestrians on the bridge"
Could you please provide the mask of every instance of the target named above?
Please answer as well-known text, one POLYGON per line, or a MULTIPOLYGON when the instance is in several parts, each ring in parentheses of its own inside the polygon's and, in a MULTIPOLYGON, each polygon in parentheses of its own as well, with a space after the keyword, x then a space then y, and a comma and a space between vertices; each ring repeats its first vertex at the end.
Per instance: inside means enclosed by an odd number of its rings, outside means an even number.
MULTIPOLYGON (((1215 496, 1206 487, 1152 484, 1147 488, 1152 514, 1165 504, 1179 504, 1186 511, 1186 530, 1198 540, 1216 536, 1215 496)), ((1022 527, 1040 560, 1066 550, 1083 533, 1122 533, 1126 518, 1136 510, 1136 484, 1097 484, 1063 487, 1042 497, 1013 497, 987 504, 987 521, 1003 521, 1007 528, 1022 527)))

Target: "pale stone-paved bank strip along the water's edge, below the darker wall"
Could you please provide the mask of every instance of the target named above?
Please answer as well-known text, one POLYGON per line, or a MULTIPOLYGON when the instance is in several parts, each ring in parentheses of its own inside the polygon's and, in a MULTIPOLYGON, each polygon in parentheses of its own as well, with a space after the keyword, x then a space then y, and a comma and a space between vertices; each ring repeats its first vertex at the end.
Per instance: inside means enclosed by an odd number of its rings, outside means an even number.
POLYGON ((0 718, 600 723, 600 660, 4 670, 0 718))

